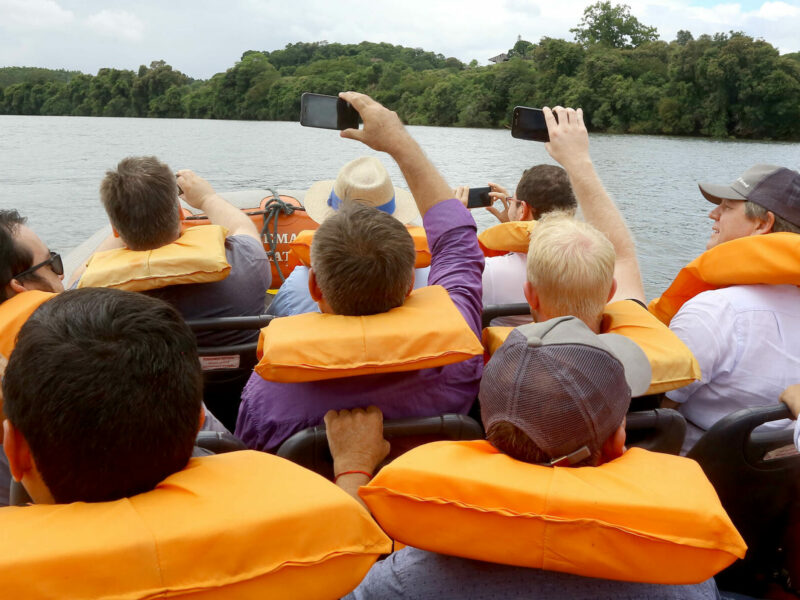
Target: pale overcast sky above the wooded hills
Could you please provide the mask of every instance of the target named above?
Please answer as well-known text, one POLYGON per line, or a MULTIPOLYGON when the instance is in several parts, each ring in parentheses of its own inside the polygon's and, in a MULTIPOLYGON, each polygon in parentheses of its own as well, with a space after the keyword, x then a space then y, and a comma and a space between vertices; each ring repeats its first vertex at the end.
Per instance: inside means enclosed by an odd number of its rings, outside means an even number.
MULTIPOLYGON (((614 0, 612 0, 613 3, 614 0)), ((572 40, 588 0, 0 0, 0 66, 96 73, 163 59, 207 79, 246 50, 293 42, 389 42, 469 62, 517 36, 572 40)), ((800 51, 800 0, 629 0, 642 23, 670 41, 679 29, 744 31, 800 51)))

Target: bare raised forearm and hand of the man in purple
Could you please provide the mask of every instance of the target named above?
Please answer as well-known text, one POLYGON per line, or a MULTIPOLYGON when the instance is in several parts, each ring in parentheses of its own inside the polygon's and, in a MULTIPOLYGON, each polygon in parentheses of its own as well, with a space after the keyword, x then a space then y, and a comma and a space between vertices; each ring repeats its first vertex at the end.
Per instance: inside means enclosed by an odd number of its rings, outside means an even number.
POLYGON ((364 122, 363 129, 345 129, 341 136, 389 154, 403 172, 422 216, 435 204, 453 197, 452 188, 403 127, 396 112, 365 94, 342 92, 339 97, 352 104, 364 122))

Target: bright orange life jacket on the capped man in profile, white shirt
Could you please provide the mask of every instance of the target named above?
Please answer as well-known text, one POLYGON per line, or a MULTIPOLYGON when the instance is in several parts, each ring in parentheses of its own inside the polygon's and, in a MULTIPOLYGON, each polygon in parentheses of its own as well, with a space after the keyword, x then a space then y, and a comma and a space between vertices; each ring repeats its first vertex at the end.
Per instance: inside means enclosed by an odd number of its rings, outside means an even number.
POLYGON ((800 285, 800 235, 752 235, 714 246, 681 269, 648 308, 669 325, 681 306, 701 292, 752 284, 800 285))

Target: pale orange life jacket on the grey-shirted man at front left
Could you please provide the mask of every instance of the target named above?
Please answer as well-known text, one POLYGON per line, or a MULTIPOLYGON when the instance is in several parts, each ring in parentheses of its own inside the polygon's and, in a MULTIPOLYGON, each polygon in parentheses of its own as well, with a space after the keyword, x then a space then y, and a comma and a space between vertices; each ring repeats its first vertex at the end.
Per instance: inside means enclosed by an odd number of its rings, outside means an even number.
POLYGON ((130 292, 168 285, 209 283, 228 276, 226 231, 219 225, 192 227, 155 250, 115 248, 97 252, 78 281, 78 287, 108 287, 130 292))

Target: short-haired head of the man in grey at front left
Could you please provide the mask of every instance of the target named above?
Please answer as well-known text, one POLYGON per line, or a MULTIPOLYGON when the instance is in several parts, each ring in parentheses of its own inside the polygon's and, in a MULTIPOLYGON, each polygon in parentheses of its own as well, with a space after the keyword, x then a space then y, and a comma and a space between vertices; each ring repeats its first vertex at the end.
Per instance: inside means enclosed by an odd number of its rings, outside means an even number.
POLYGON ((106 171, 100 199, 111 225, 131 250, 153 250, 180 233, 178 184, 154 156, 128 157, 106 171))

